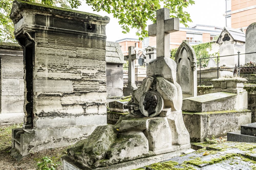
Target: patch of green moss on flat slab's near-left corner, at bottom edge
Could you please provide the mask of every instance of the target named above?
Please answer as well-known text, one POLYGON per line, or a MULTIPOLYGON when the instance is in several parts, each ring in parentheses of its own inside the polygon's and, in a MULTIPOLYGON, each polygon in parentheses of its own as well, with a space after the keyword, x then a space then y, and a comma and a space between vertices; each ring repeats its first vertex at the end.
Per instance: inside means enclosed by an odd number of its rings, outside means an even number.
POLYGON ((154 170, 170 170, 170 169, 172 169, 172 170, 188 170, 188 169, 195 170, 194 167, 184 165, 184 164, 182 165, 183 168, 176 168, 175 166, 178 164, 179 163, 175 162, 175 161, 168 161, 168 162, 151 164, 146 167, 154 169, 154 170))

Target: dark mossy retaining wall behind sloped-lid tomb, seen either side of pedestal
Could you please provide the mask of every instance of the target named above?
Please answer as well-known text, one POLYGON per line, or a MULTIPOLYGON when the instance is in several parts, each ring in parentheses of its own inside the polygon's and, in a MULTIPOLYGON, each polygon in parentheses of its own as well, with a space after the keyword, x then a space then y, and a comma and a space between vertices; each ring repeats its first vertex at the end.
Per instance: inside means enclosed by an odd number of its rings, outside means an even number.
MULTIPOLYGON (((211 93, 213 86, 198 86, 197 95, 211 93)), ((252 123, 256 122, 256 86, 244 86, 248 93, 248 109, 252 111, 252 123)))

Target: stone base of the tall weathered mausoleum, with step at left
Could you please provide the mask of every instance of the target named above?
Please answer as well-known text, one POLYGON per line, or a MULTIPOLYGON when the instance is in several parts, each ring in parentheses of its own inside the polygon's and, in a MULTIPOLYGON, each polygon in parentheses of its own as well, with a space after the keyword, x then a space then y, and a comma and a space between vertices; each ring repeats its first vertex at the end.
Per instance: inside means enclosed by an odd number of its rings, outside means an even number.
POLYGON ((97 125, 62 127, 49 129, 12 129, 12 148, 21 155, 43 149, 72 145, 78 140, 87 138, 97 125))

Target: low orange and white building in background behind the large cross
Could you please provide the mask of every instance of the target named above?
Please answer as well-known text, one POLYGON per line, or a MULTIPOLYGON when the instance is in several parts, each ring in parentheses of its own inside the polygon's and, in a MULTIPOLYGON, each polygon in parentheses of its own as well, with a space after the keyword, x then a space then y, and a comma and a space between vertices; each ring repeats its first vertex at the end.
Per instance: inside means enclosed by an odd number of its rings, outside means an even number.
MULTIPOLYGON (((255 0, 256 1, 256 0, 255 0)), ((179 31, 170 33, 170 49, 177 48, 184 40, 188 40, 191 45, 206 43, 218 36, 223 28, 209 25, 194 25, 189 28, 180 28, 179 31)), ((156 37, 145 37, 143 41, 133 38, 124 38, 116 41, 120 44, 124 55, 128 54, 128 47, 139 42, 138 47, 145 51, 148 46, 156 47, 156 37)))

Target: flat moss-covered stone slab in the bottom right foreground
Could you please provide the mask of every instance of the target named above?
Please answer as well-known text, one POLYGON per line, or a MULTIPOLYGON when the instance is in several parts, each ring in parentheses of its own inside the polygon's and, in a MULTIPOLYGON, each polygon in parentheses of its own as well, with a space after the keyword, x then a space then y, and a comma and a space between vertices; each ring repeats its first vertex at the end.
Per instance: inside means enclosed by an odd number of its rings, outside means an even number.
POLYGON ((209 145, 195 152, 175 156, 166 161, 145 166, 151 170, 187 168, 196 170, 255 168, 255 143, 224 142, 209 145), (207 152, 205 156, 203 154, 207 152))

